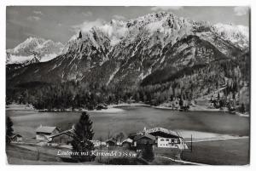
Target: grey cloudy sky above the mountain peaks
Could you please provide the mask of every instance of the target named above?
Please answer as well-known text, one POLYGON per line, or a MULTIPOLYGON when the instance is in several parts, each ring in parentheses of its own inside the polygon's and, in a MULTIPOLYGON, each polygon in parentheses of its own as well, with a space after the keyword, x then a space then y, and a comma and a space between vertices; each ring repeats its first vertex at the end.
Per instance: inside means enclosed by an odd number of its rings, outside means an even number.
POLYGON ((249 26, 247 7, 10 6, 6 9, 6 48, 15 48, 27 37, 42 37, 65 44, 81 25, 98 26, 112 19, 130 20, 160 11, 212 24, 249 26))

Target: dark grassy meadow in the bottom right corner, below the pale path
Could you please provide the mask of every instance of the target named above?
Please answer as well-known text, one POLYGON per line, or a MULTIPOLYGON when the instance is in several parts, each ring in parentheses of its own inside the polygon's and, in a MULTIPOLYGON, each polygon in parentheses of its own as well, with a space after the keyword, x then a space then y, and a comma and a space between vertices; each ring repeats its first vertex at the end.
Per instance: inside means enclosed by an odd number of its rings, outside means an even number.
POLYGON ((212 165, 246 165, 250 161, 249 150, 249 139, 196 142, 192 152, 183 152, 182 159, 212 165))

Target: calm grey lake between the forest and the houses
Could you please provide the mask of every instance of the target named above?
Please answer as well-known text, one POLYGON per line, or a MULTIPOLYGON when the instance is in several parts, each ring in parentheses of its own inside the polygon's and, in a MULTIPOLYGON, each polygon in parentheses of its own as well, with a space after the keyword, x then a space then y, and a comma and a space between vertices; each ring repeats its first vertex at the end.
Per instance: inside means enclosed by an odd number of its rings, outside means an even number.
MULTIPOLYGON (((106 140, 123 132, 125 135, 139 130, 163 127, 175 130, 200 131, 215 134, 249 135, 249 117, 239 117, 222 111, 172 111, 147 106, 123 106, 120 112, 89 111, 95 132, 94 139, 106 140)), ((35 137, 40 125, 71 128, 79 121, 81 112, 6 111, 14 123, 15 133, 25 140, 35 137)))

